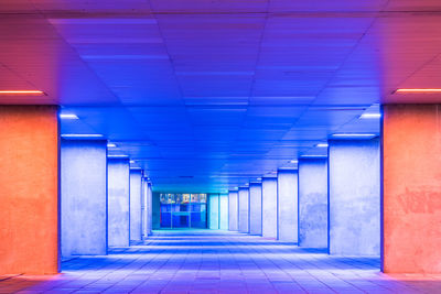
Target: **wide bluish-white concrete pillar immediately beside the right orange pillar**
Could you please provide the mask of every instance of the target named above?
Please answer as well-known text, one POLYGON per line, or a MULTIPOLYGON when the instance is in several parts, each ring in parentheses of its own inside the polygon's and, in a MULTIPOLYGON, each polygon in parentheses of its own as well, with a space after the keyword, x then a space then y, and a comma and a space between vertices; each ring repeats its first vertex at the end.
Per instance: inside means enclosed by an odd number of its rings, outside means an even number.
POLYGON ((379 255, 379 171, 377 139, 330 141, 331 254, 379 255))

